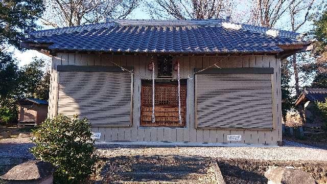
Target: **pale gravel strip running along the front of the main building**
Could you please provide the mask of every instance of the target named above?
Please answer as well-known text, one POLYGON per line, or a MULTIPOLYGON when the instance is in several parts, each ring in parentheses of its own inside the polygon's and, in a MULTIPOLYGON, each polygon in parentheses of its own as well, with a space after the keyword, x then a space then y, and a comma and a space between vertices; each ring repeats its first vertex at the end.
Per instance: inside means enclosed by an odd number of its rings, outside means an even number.
MULTIPOLYGON (((1 157, 33 158, 29 148, 30 138, 0 140, 1 157)), ((319 160, 327 162, 327 150, 317 149, 291 141, 284 147, 145 147, 122 145, 97 145, 102 157, 134 155, 180 155, 223 159, 263 159, 263 160, 319 160)))

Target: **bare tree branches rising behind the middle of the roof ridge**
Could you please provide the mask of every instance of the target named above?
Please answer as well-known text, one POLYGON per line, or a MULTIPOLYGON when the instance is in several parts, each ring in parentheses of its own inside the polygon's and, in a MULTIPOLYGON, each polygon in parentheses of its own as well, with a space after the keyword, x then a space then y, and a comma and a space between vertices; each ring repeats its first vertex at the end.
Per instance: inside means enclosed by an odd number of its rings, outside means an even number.
POLYGON ((229 0, 153 0, 147 3, 147 7, 154 19, 217 19, 232 16, 240 3, 229 0))

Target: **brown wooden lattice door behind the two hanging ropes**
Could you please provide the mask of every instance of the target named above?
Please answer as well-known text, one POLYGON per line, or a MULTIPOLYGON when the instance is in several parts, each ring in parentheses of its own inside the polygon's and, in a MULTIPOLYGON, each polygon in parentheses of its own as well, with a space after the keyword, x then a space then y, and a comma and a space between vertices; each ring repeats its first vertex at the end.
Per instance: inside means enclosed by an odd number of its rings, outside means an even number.
MULTIPOLYGON (((158 82, 156 82, 158 83, 158 82)), ((180 104, 182 123, 178 120, 178 85, 177 81, 155 84, 155 123, 152 116, 152 85, 142 84, 141 91, 141 126, 147 127, 184 127, 186 117, 186 82, 180 85, 180 104)))

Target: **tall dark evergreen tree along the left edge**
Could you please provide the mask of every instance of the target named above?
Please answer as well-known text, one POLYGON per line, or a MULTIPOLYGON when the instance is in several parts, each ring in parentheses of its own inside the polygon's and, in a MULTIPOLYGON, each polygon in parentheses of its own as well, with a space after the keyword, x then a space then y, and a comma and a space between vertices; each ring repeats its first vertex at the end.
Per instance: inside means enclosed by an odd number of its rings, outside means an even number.
POLYGON ((37 28, 36 20, 43 13, 42 0, 2 0, 0 2, 0 123, 17 120, 16 100, 24 94, 21 86, 24 72, 6 51, 8 45, 19 47, 19 37, 37 28))

